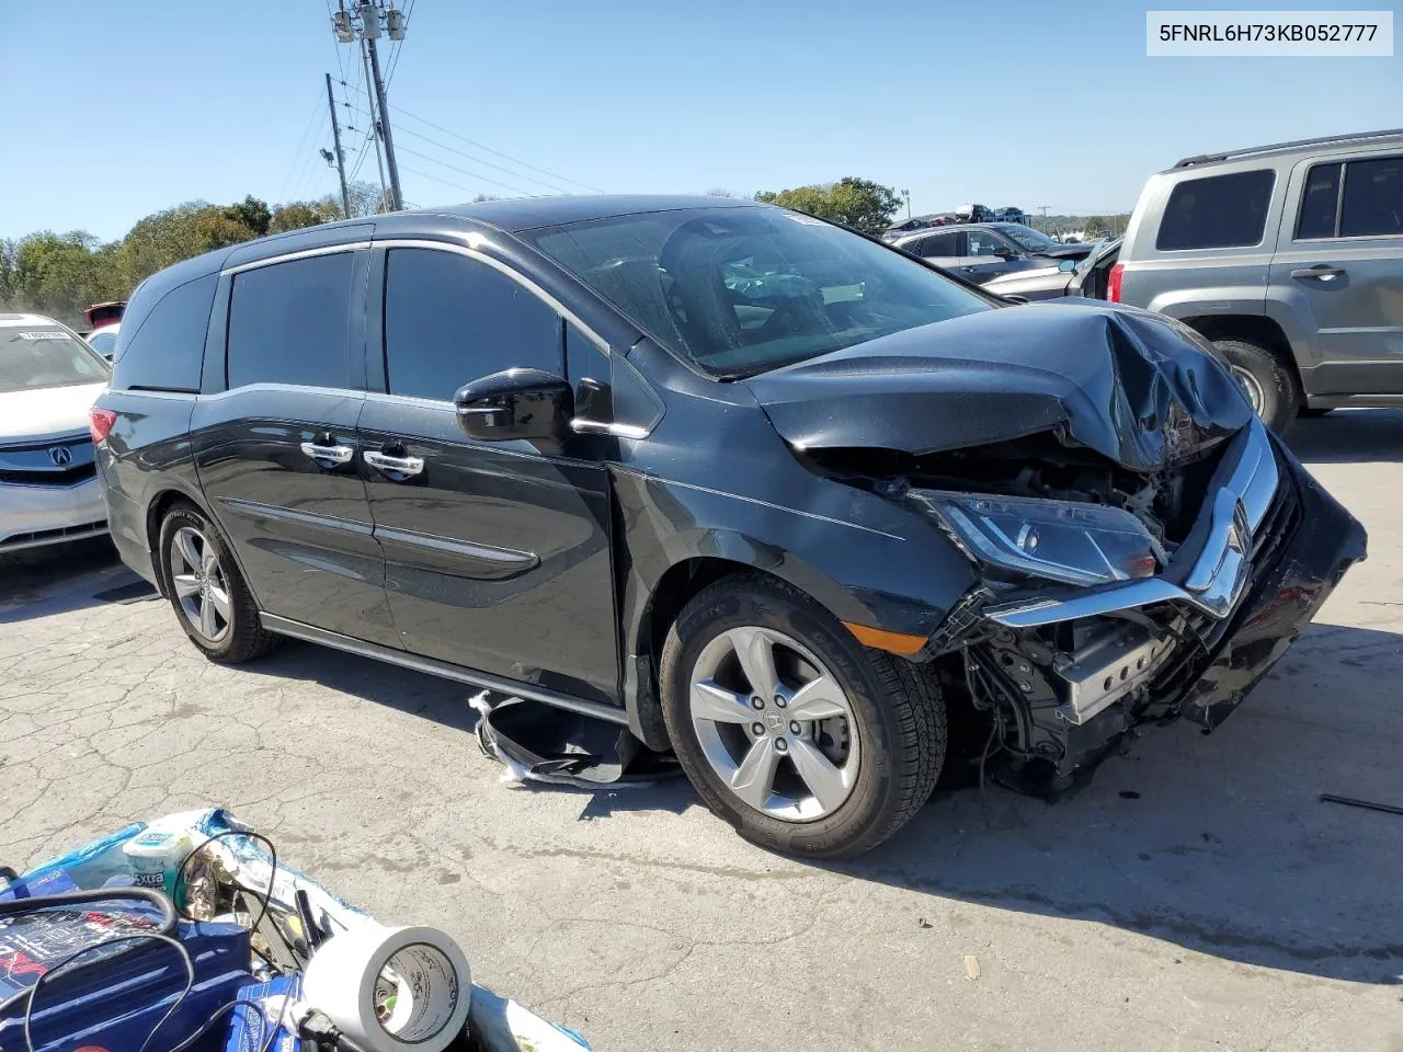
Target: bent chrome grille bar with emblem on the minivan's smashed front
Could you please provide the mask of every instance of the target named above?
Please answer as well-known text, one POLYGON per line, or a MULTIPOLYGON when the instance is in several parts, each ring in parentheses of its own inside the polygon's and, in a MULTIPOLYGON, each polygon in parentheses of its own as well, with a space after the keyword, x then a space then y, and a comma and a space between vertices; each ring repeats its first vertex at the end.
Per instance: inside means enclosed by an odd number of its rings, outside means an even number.
POLYGON ((1263 422, 1253 418, 1228 481, 1211 501, 1204 502, 1207 511, 1200 512, 1212 516, 1212 529, 1183 588, 1162 576, 1143 578, 1070 599, 1040 596, 1003 603, 989 607, 985 614, 1009 628, 1033 628, 1179 600, 1222 620, 1237 607, 1247 586, 1251 534, 1271 508, 1280 485, 1281 473, 1271 439, 1263 422))

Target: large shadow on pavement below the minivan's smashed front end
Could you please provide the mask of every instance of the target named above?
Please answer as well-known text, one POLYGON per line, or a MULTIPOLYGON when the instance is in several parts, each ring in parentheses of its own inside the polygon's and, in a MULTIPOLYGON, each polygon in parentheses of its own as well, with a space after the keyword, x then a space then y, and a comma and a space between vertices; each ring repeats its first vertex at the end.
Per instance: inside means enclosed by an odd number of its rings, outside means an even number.
POLYGON ((1212 735, 1148 728, 1082 793, 937 793, 839 871, 1331 979, 1403 982, 1403 637, 1316 626, 1212 735))

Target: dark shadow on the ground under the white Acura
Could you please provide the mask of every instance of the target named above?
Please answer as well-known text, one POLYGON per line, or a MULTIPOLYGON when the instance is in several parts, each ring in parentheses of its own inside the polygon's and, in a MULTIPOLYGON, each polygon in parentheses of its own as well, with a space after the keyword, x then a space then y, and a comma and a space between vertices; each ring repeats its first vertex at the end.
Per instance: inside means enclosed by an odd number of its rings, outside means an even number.
POLYGON ((0 555, 0 624, 154 598, 107 537, 0 555))

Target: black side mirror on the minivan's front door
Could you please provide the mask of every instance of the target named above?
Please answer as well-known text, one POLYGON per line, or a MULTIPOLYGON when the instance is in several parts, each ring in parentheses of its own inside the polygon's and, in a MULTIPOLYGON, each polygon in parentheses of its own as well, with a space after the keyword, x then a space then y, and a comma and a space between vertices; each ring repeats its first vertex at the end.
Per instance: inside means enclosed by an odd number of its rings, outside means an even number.
POLYGON ((506 369, 463 384, 453 396, 457 425, 478 442, 561 443, 575 415, 570 383, 542 369, 506 369))

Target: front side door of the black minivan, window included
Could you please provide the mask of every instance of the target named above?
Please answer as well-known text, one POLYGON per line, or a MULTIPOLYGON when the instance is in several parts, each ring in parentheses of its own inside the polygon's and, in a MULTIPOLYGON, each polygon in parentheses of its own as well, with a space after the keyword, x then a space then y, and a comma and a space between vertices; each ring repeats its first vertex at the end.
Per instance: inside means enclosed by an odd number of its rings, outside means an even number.
POLYGON ((607 470, 581 450, 474 442, 452 404, 504 369, 565 375, 561 317, 466 250, 391 247, 380 267, 369 324, 383 323, 386 394, 368 398, 361 445, 403 645, 616 704, 607 470))

